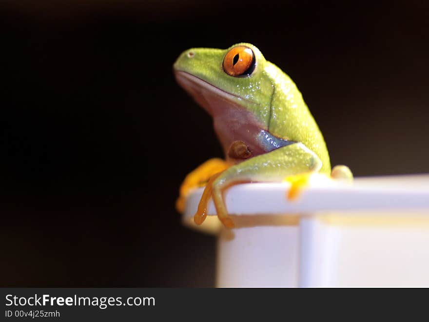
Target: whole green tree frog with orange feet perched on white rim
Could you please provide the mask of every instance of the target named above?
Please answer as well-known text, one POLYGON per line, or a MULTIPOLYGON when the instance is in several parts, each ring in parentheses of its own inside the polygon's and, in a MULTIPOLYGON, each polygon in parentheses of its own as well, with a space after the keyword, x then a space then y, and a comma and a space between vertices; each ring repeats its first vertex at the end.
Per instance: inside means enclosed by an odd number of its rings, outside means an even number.
POLYGON ((203 163, 182 184, 182 210, 191 188, 205 186, 196 224, 205 220, 213 199, 219 220, 234 228, 224 195, 235 184, 289 181, 292 199, 292 191, 313 173, 352 180, 349 167, 331 169, 326 142, 296 84, 253 44, 185 50, 173 71, 177 83, 213 118, 225 155, 203 163))

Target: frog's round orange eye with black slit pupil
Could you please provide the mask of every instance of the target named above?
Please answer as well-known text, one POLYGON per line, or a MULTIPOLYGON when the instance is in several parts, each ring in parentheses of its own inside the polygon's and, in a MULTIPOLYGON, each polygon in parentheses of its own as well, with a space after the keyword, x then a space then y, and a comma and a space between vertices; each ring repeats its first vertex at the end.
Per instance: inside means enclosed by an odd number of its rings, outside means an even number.
POLYGON ((249 76, 254 71, 255 58, 252 49, 236 46, 223 59, 223 70, 230 76, 249 76))

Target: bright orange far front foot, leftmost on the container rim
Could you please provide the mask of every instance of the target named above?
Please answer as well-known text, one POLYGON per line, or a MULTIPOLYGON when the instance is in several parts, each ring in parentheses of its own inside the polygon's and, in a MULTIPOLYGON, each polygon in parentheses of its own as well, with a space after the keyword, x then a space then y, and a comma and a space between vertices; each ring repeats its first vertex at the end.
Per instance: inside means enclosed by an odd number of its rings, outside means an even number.
POLYGON ((185 210, 185 201, 189 192, 198 187, 203 187, 216 173, 227 169, 230 164, 222 159, 210 159, 190 172, 182 182, 179 190, 179 198, 176 201, 176 210, 182 213, 185 210))

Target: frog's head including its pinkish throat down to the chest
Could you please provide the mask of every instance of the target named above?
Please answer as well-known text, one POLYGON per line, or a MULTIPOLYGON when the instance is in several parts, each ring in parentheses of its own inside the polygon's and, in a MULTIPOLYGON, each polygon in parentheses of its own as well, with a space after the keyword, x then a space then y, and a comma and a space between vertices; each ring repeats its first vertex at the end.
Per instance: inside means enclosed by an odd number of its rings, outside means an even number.
POLYGON ((254 155, 263 153, 253 143, 271 116, 274 86, 267 65, 259 49, 241 42, 228 49, 188 49, 173 66, 177 82, 213 117, 225 152, 242 140, 254 155))

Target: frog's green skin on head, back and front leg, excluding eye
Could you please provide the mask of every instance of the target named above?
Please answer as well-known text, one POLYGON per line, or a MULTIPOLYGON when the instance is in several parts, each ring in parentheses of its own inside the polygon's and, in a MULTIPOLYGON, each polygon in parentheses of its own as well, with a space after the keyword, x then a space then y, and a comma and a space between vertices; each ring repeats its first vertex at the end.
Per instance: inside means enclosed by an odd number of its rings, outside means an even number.
MULTIPOLYGON (((254 45, 238 43, 225 50, 192 48, 179 56, 174 70, 176 74, 186 73, 231 94, 225 99, 250 112, 261 129, 276 138, 297 142, 256 155, 225 170, 213 182, 213 199, 220 219, 227 216, 222 191, 234 182, 283 181, 300 173, 331 173, 326 143, 295 83, 276 65, 265 60, 254 45), (225 55, 237 45, 247 46, 254 53, 255 68, 249 76, 233 77, 223 70, 225 55)), ((176 78, 179 81, 180 77, 176 75, 176 78)), ((195 84, 192 90, 187 83, 179 83, 192 96, 197 96, 195 84)), ((210 91, 211 87, 206 90, 210 91)))

